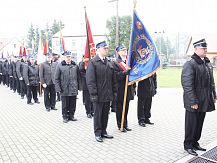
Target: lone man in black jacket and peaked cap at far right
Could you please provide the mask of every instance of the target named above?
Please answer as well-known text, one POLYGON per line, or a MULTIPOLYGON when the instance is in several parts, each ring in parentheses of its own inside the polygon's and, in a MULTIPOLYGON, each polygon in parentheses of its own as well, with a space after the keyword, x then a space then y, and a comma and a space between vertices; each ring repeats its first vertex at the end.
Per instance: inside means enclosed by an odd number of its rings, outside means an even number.
POLYGON ((206 112, 215 110, 216 100, 213 67, 206 57, 207 43, 205 39, 193 43, 195 53, 187 61, 182 70, 181 82, 184 89, 185 140, 184 149, 197 156, 196 150, 206 151, 200 147, 206 112))

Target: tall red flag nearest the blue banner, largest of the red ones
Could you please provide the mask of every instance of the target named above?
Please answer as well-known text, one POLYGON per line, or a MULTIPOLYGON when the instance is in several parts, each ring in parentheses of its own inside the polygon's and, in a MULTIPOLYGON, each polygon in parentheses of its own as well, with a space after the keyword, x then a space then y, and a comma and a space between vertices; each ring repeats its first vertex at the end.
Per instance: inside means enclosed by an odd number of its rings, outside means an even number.
POLYGON ((88 60, 90 60, 96 55, 96 49, 95 49, 95 44, 93 41, 92 32, 90 30, 90 24, 87 18, 86 10, 85 10, 85 20, 86 20, 87 41, 86 41, 86 48, 85 48, 85 54, 84 54, 84 63, 85 63, 85 67, 87 67, 88 60))

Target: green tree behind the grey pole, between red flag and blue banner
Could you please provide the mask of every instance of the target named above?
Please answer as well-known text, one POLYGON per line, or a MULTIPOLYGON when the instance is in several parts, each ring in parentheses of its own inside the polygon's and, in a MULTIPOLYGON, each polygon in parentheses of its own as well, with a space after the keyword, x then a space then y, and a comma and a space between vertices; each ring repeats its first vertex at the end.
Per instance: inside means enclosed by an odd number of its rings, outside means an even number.
MULTIPOLYGON (((119 43, 129 47, 130 31, 132 18, 131 16, 119 17, 119 43)), ((109 55, 115 54, 115 36, 116 36, 116 17, 113 16, 106 22, 108 29, 107 40, 109 43, 109 55)))

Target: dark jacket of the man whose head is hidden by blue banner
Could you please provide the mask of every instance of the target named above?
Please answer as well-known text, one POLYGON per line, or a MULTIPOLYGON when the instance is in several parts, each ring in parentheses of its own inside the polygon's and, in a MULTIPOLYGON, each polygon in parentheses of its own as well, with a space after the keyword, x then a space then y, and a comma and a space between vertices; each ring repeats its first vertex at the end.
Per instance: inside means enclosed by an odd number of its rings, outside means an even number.
POLYGON ((137 96, 141 98, 153 97, 157 92, 156 73, 138 83, 137 96))

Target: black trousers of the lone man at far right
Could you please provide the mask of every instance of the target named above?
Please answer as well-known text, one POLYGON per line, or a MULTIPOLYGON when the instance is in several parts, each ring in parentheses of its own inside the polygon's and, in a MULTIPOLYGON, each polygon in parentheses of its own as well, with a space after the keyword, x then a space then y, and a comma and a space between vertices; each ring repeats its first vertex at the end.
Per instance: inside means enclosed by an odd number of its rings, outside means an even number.
POLYGON ((185 112, 185 140, 184 149, 198 146, 201 137, 206 112, 185 112))

